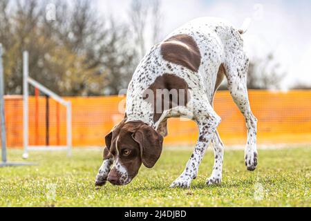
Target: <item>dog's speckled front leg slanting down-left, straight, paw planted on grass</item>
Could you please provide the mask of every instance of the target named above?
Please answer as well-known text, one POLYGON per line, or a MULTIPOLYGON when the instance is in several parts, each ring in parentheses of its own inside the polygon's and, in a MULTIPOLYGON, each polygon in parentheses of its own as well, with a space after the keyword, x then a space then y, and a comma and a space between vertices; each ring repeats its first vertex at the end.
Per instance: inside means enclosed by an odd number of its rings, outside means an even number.
POLYGON ((211 142, 216 128, 220 124, 220 117, 215 113, 208 102, 202 102, 200 110, 195 113, 196 122, 199 127, 199 138, 194 153, 192 153, 190 160, 187 163, 185 171, 178 177, 178 179, 171 184, 171 187, 189 188, 191 181, 196 178, 198 174, 198 167, 202 162, 205 151, 211 142), (204 104, 204 106, 202 105, 204 104), (198 114, 200 113, 200 114, 198 114))

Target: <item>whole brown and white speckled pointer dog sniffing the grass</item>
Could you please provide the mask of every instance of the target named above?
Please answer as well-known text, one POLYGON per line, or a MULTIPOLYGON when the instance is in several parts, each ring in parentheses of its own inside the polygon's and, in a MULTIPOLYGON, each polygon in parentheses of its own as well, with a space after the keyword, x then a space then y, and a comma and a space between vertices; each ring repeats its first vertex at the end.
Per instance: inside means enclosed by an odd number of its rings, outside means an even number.
POLYGON ((224 146, 218 135, 220 117, 213 108, 224 77, 247 124, 245 164, 257 165, 256 125, 247 95, 249 59, 243 51, 243 30, 220 19, 204 17, 178 28, 153 46, 135 70, 123 121, 106 135, 104 162, 95 184, 129 184, 140 166, 153 167, 162 153, 167 119, 187 117, 198 124, 198 143, 185 171, 171 187, 189 188, 209 144, 215 162, 207 184, 220 184, 224 146), (112 169, 111 169, 112 167, 112 169))

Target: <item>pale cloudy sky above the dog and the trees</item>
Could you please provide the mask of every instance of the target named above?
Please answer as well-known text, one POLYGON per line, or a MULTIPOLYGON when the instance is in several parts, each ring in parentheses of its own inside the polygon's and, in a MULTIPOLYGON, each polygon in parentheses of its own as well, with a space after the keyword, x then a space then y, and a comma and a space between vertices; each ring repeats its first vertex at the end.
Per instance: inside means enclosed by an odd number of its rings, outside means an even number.
MULTIPOLYGON (((96 0, 103 13, 124 21, 131 0, 96 0)), ((294 82, 311 85, 311 1, 252 0, 164 0, 162 1, 162 36, 196 17, 222 17, 240 28, 245 18, 252 24, 245 40, 249 57, 274 52, 281 68, 288 73, 287 88, 294 82)))

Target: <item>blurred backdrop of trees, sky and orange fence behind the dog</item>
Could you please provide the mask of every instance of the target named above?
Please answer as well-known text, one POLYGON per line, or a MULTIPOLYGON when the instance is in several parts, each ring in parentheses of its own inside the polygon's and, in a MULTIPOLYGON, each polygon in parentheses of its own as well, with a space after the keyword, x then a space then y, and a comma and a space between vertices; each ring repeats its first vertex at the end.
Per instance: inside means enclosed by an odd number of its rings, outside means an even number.
MULTIPOLYGON (((124 97, 115 95, 126 94, 145 52, 183 23, 205 16, 222 17, 237 28, 252 19, 243 39, 258 142, 311 142, 310 15, 308 0, 1 0, 8 146, 22 146, 23 50, 30 54, 30 77, 73 103, 74 146, 100 146, 122 117, 124 97)), ((220 134, 227 144, 243 144, 242 115, 225 83, 220 90, 220 134)), ((30 99, 34 144, 46 137, 46 105, 40 102, 35 108, 30 99)), ((49 108, 50 142, 60 144, 66 140, 66 114, 56 103, 49 108)), ((193 122, 173 119, 169 132, 168 144, 196 142, 193 122)))

